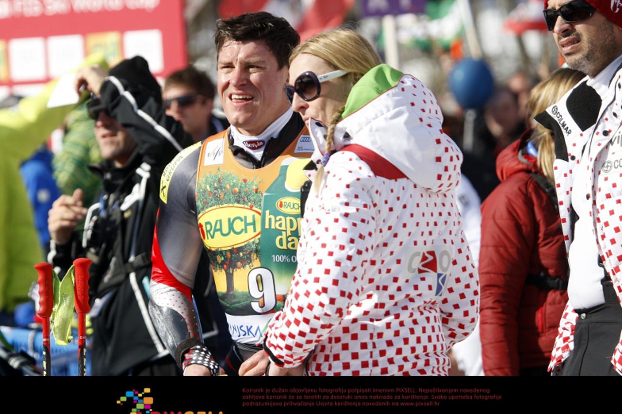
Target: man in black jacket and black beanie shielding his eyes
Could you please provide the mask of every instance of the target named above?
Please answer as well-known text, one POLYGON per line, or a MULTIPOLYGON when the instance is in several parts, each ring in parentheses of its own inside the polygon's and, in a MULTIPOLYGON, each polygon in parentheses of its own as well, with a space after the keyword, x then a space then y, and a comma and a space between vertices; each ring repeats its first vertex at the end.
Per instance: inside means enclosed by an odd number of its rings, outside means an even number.
POLYGON ((55 201, 49 260, 63 273, 77 257, 93 260, 93 374, 177 374, 149 318, 147 292, 160 176, 192 139, 164 116, 160 86, 141 57, 124 60, 109 76, 100 67, 84 68, 77 83, 95 95, 88 108, 104 162, 93 170, 104 191, 88 210, 81 190, 55 201), (159 115, 162 125, 147 113, 159 115), (75 226, 85 217, 80 240, 75 226))

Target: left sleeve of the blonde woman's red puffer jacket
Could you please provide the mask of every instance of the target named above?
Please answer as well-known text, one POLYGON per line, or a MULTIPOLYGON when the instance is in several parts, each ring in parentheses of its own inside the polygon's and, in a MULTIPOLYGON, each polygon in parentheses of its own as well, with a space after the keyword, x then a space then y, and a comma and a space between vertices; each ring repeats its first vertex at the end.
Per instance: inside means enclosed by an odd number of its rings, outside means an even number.
POLYGON ((520 367, 518 308, 535 239, 535 218, 526 181, 511 178, 481 206, 480 335, 486 375, 518 375, 520 367))

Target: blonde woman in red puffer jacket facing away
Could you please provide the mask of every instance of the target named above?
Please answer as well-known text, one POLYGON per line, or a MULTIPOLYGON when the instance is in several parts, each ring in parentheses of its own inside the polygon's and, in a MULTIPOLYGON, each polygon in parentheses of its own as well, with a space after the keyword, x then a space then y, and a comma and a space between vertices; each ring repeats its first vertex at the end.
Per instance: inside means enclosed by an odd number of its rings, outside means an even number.
MULTIPOLYGON (((529 95, 539 114, 583 78, 559 69, 529 95)), ((554 140, 544 127, 497 158, 501 184, 481 207, 480 336, 485 375, 545 375, 568 300, 564 236, 553 179, 554 140)))

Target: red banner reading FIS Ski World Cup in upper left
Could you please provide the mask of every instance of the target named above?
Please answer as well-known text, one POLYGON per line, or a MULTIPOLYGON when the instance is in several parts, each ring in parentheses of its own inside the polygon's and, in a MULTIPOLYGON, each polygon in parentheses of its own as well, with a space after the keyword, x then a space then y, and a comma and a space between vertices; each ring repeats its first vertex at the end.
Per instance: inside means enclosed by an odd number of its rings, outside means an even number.
POLYGON ((182 0, 0 0, 0 99, 35 93, 101 52, 157 77, 187 64, 182 0))

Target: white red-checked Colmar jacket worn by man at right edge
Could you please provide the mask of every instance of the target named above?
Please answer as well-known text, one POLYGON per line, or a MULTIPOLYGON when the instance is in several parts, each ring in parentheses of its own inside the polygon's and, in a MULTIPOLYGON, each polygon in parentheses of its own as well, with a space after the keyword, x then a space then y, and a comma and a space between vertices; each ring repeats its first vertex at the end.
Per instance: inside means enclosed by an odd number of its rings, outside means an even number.
MULTIPOLYGON (((611 65, 618 65, 620 61, 611 65)), ((555 185, 566 251, 573 237, 570 195, 574 173, 582 155, 590 157, 593 235, 611 277, 618 300, 622 301, 622 69, 609 67, 595 79, 578 83, 560 101, 539 114, 536 120, 555 134, 555 185), (613 70, 611 78, 608 71, 613 70), (606 79, 600 78, 605 76, 606 79), (603 83, 604 81, 604 83, 603 83), (585 147, 585 149, 584 149, 585 147)), ((586 258, 590 260, 592 258, 586 258)), ((572 277, 572 275, 571 275, 572 277)), ((555 339, 549 370, 561 364, 573 349, 577 313, 566 305, 555 339)), ((622 336, 611 356, 611 364, 622 375, 622 336)))

